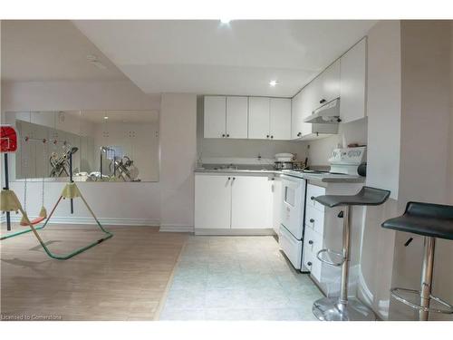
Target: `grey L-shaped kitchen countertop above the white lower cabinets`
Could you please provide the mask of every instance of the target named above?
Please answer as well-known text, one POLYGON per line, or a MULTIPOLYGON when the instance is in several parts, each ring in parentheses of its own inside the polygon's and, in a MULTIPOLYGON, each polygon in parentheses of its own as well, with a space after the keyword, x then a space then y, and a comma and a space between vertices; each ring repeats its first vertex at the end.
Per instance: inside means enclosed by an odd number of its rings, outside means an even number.
MULTIPOLYGON (((196 173, 219 173, 219 174, 256 174, 256 175, 288 175, 294 176, 294 172, 289 173, 288 170, 246 170, 246 169, 196 169, 196 173)), ((298 177, 304 180, 316 180, 324 183, 362 183, 365 181, 364 177, 342 175, 334 173, 307 173, 298 172, 294 177, 298 177)))

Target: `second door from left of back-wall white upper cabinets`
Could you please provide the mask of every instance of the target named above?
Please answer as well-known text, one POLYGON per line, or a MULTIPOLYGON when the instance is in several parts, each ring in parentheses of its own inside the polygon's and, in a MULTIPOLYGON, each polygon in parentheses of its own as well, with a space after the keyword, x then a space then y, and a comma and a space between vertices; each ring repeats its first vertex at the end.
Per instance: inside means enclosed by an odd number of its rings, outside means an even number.
POLYGON ((247 138, 248 98, 226 97, 226 137, 247 138))

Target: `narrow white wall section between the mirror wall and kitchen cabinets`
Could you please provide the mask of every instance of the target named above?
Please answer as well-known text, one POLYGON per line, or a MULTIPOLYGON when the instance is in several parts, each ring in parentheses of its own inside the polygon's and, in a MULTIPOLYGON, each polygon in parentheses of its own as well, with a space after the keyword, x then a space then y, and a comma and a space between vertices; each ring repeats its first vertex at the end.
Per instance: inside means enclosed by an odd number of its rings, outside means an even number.
POLYGON ((193 230, 197 96, 162 94, 160 114, 160 228, 193 230))

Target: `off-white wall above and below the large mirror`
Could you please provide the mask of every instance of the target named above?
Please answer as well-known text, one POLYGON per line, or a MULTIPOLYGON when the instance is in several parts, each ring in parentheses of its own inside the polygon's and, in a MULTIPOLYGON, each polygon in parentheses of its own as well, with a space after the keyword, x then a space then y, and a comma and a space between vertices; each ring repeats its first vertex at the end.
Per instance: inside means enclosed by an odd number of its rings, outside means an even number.
MULTIPOLYGON (((147 95, 129 81, 4 83, 2 86, 2 112, 159 110, 159 107, 160 95, 147 95)), ((171 134, 170 130, 168 132, 171 134)), ((22 197, 23 183, 15 182, 12 188, 22 197)), ((160 185, 157 182, 80 183, 80 188, 105 223, 159 225, 160 185)), ((41 208, 41 199, 38 199, 41 185, 29 183, 28 189, 28 208, 33 216, 41 208)), ((62 189, 63 183, 46 183, 48 209, 62 189)), ((58 209, 55 216, 70 217, 67 206, 58 209)), ((84 209, 76 209, 74 216, 83 221, 89 214, 84 209)))

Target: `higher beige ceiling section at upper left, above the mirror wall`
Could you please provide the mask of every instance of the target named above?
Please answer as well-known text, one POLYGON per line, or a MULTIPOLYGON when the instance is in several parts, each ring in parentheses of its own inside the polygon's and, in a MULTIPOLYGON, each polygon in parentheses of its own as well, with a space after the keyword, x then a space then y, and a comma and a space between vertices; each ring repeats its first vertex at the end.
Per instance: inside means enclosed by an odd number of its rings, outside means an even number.
POLYGON ((2 20, 2 80, 127 79, 71 21, 2 20), (106 68, 88 63, 88 54, 96 55, 106 68))

